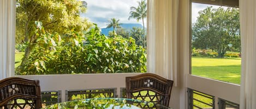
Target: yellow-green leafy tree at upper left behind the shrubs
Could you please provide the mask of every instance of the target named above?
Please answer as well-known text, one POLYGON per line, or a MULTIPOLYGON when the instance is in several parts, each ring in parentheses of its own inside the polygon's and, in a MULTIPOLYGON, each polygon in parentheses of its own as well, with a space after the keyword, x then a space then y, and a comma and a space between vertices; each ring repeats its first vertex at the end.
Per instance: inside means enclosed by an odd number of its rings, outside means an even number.
POLYGON ((92 25, 80 17, 86 12, 86 3, 77 0, 16 0, 16 11, 16 43, 27 43, 21 64, 37 43, 35 21, 40 21, 45 31, 60 35, 71 29, 82 32, 92 25))

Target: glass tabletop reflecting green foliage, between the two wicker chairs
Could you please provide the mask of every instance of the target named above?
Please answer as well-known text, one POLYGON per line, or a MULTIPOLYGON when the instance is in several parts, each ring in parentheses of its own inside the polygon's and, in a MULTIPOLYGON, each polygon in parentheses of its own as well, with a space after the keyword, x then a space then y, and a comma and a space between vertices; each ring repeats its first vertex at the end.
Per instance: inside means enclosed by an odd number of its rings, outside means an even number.
POLYGON ((140 109, 140 108, 154 108, 154 109, 171 109, 163 105, 153 102, 124 99, 124 98, 93 98, 61 102, 44 107, 44 109, 140 109))

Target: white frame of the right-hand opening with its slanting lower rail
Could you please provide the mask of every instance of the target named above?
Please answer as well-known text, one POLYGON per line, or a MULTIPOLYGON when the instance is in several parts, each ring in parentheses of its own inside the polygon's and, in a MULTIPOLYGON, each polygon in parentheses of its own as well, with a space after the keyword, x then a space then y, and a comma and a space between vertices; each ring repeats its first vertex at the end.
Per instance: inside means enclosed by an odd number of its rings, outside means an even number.
MULTIPOLYGON (((207 1, 207 0, 190 0, 190 40, 191 44, 192 40, 192 2, 193 3, 203 3, 203 4, 214 4, 214 5, 223 5, 223 6, 231 6, 238 7, 238 1, 235 0, 234 3, 228 3, 227 0, 216 0, 216 1, 207 1)), ((215 108, 218 109, 218 98, 222 98, 228 101, 235 102, 239 104, 240 102, 240 85, 232 84, 230 82, 219 81, 215 79, 204 78, 197 75, 192 75, 191 67, 192 67, 192 56, 191 56, 191 46, 190 46, 190 70, 189 74, 186 75, 186 85, 188 88, 194 89, 196 91, 200 91, 206 94, 210 94, 215 96, 215 108)))

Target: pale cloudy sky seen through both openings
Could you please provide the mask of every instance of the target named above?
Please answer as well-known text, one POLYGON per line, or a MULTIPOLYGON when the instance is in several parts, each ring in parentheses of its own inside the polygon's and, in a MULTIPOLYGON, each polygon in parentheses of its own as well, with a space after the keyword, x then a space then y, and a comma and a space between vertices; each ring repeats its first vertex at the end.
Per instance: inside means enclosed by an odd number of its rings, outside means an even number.
MULTIPOLYGON (((140 0, 83 0, 87 2, 87 12, 82 17, 88 18, 89 21, 98 24, 100 28, 105 28, 111 18, 117 18, 120 23, 140 23, 130 16, 130 7, 138 7, 140 0)), ((197 21, 198 11, 204 10, 206 4, 192 3, 192 23, 197 21)), ((219 6, 212 5, 213 8, 219 6)))

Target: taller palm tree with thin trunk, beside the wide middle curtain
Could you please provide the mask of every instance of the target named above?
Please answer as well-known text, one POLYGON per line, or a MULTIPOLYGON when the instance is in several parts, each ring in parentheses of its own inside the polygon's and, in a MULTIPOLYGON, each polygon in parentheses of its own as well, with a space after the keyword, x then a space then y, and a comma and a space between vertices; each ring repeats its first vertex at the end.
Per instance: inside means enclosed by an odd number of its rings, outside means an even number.
MULTIPOLYGON (((145 0, 141 0, 138 3, 139 3, 139 5, 137 8, 130 7, 130 16, 129 16, 128 20, 130 20, 130 18, 136 18, 137 22, 139 22, 139 20, 142 20, 144 42, 146 42, 144 18, 147 17, 147 3, 145 2, 145 0)), ((146 43, 144 43, 144 47, 146 47, 146 43)))

